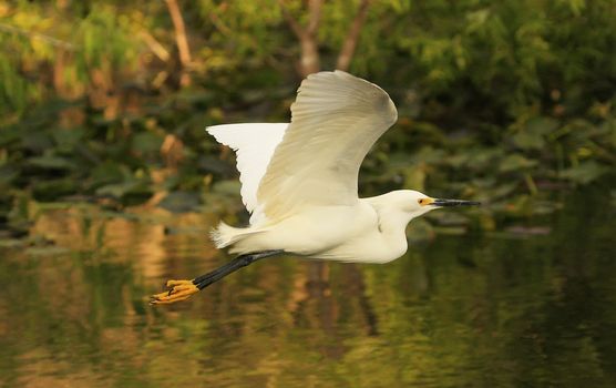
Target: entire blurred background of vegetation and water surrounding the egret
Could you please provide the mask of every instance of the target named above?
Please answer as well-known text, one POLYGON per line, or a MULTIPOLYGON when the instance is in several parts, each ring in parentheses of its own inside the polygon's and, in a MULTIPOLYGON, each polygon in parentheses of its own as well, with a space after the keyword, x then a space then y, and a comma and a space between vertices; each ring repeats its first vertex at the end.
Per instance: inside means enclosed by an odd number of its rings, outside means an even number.
POLYGON ((615 14, 0 0, 0 386, 615 387, 615 14), (399 110, 362 195, 484 205, 413 221, 389 265, 281 257, 147 307, 228 259, 205 237, 220 217, 247 218, 205 126, 286 122, 336 68, 399 110))

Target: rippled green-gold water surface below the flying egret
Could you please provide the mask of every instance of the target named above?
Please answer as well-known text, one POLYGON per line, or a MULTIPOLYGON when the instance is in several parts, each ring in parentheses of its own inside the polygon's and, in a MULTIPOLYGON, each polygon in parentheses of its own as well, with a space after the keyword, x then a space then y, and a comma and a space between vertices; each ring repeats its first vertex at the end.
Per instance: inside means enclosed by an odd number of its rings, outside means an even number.
POLYGON ((614 216, 571 194, 516 233, 437 235, 380 266, 273 258, 151 307, 228 259, 215 215, 41 208, 37 238, 0 248, 0 385, 614 387, 614 216))

